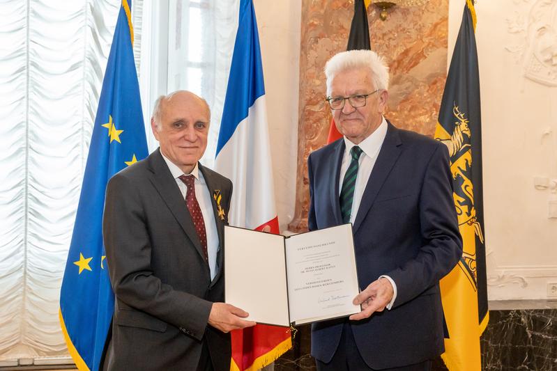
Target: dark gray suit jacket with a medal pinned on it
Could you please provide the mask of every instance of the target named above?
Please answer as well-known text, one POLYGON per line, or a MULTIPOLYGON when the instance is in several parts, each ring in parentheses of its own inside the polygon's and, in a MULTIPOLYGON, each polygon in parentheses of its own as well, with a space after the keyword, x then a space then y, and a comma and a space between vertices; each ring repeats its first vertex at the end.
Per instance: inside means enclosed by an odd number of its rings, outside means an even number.
MULTIPOLYGON (((199 164, 211 196, 228 215, 232 183, 199 164)), ((213 281, 176 180, 156 150, 107 185, 103 237, 116 302, 108 370, 196 370, 206 342, 215 370, 230 368, 230 337, 208 326, 224 301, 224 224, 213 281)))

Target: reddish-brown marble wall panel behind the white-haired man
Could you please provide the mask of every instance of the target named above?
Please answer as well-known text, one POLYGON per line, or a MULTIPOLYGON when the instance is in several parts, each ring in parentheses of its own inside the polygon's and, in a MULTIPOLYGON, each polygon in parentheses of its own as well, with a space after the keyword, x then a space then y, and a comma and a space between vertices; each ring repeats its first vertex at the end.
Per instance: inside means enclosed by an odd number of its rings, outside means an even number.
MULTIPOLYGON (((300 121, 296 212, 289 229, 307 230, 307 156, 326 144, 330 111, 323 66, 346 50, 353 15, 350 0, 303 0, 300 40, 300 121), (301 181, 300 181, 301 180, 301 181)), ((386 117, 397 127, 433 135, 447 70, 448 0, 393 8, 386 21, 367 10, 372 49, 390 65, 386 117)))

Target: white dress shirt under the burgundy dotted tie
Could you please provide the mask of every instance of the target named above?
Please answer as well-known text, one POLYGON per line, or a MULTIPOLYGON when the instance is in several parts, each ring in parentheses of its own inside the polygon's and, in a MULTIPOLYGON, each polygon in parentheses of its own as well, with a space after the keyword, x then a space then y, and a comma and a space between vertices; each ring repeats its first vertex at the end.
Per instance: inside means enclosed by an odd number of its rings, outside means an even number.
MULTIPOLYGON (((160 154, 162 155, 162 152, 160 152, 160 154)), ((184 175, 184 173, 172 161, 167 159, 165 155, 162 155, 162 158, 165 159, 170 173, 174 177, 174 180, 176 180, 176 184, 178 184, 178 188, 182 192, 182 197, 184 198, 184 207, 187 208, 187 206, 185 205, 185 194, 188 191, 188 186, 186 186, 185 183, 180 180, 180 177, 184 175)), ((201 171, 199 171, 198 164, 195 164, 195 167, 190 174, 193 175, 195 178, 195 198, 197 198, 197 203, 199 203, 201 214, 203 214, 203 221, 205 222, 205 232, 207 234, 207 255, 209 258, 209 269, 211 270, 211 280, 213 280, 213 278, 215 278, 215 275, 217 274, 216 266, 219 241, 217 223, 215 221, 215 213, 213 212, 213 205, 211 204, 211 193, 207 188, 207 184, 205 182, 203 174, 201 173, 201 171)))

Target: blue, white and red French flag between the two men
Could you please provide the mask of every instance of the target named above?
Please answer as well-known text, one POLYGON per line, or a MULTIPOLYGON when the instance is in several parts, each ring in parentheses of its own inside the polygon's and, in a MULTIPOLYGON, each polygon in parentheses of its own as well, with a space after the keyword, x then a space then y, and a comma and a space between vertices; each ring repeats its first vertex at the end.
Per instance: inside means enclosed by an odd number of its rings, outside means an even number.
MULTIPOLYGON (((279 233, 261 49, 252 0, 241 0, 215 170, 234 184, 229 223, 279 233)), ((257 277, 254 277, 257 279, 257 277)), ((259 370, 291 347, 290 331, 258 324, 232 332, 231 370, 259 370)))

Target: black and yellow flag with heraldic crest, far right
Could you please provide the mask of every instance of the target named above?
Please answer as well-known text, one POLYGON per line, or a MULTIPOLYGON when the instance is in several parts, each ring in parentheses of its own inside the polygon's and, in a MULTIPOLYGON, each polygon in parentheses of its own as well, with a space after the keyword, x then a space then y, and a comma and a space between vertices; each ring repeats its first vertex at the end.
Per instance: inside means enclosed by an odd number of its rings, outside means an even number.
POLYGON ((441 280, 449 338, 443 361, 450 371, 481 370, 480 335, 487 326, 480 79, 475 10, 466 1, 452 54, 435 138, 447 145, 464 252, 441 280))

